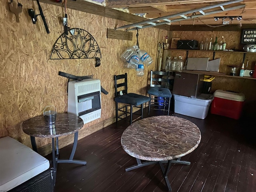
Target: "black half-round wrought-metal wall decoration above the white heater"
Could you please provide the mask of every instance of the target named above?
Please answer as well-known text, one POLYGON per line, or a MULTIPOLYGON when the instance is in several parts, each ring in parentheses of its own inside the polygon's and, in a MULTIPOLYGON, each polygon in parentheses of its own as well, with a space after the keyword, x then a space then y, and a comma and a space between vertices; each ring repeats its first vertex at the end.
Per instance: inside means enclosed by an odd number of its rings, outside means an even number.
POLYGON ((72 28, 68 35, 62 33, 52 47, 50 59, 87 59, 96 58, 100 66, 100 48, 94 37, 86 30, 72 28))

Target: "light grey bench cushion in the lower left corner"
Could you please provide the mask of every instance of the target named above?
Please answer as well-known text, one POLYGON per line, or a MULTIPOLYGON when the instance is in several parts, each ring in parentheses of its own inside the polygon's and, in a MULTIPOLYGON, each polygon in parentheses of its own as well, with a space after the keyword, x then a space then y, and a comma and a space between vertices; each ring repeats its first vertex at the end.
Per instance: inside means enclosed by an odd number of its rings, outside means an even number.
POLYGON ((0 138, 0 191, 8 191, 50 167, 49 161, 10 137, 0 138))

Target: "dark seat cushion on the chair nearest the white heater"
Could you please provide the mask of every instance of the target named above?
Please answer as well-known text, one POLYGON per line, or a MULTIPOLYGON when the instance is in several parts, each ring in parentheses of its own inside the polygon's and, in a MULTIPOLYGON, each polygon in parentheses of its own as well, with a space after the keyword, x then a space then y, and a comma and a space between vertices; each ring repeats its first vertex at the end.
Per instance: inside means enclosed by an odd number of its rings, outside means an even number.
POLYGON ((138 95, 135 93, 128 93, 125 95, 117 96, 114 98, 114 100, 117 103, 132 104, 134 106, 138 106, 138 105, 141 105, 142 103, 148 102, 150 98, 147 96, 138 95))

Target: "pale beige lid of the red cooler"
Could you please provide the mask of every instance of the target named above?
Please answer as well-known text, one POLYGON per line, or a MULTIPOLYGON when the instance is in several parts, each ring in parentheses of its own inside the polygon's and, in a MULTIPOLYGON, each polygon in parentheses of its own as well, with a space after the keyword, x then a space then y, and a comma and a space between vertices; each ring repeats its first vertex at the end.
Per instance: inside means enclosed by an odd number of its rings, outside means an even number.
POLYGON ((230 91, 224 91, 224 90, 216 90, 214 92, 214 97, 222 98, 222 99, 228 99, 233 101, 244 101, 245 96, 243 93, 234 93, 230 91))

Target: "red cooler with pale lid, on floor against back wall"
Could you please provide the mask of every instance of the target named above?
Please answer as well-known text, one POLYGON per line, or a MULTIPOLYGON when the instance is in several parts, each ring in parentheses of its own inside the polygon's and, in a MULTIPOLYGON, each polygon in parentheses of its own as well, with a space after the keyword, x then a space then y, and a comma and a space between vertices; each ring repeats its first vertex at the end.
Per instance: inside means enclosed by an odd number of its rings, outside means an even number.
POLYGON ((212 114, 222 115, 233 119, 239 119, 242 114, 245 96, 243 93, 234 93, 223 90, 214 92, 212 101, 212 114))

